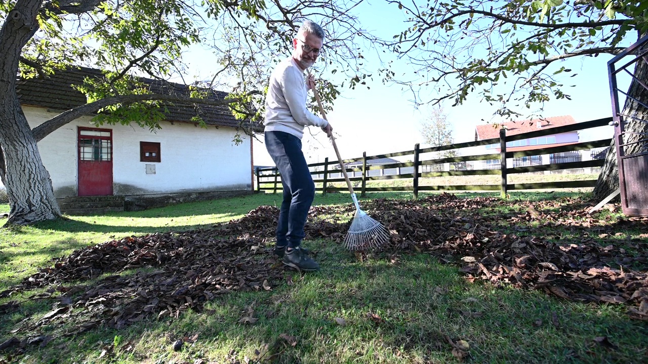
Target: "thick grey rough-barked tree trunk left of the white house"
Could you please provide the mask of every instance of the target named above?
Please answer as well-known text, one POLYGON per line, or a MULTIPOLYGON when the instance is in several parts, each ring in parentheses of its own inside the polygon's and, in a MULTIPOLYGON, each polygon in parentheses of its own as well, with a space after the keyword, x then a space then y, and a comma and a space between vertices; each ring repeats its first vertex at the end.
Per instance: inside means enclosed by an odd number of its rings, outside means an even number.
POLYGON ((16 95, 19 57, 38 30, 38 0, 18 0, 0 29, 0 177, 9 197, 8 223, 25 224, 61 216, 52 181, 16 95))

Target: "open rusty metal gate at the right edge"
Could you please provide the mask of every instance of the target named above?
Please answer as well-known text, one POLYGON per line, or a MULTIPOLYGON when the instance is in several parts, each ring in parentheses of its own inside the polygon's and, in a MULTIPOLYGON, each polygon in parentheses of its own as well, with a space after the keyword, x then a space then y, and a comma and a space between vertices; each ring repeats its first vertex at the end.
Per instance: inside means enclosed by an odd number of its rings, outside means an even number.
MULTIPOLYGON (((627 171, 625 170, 625 161, 627 161, 629 158, 636 158, 642 155, 645 155, 645 159, 648 159, 648 152, 640 152, 636 154, 627 155, 625 154, 625 148, 629 145, 638 144, 638 143, 645 143, 645 145, 648 146, 648 138, 636 142, 624 143, 623 137, 624 135, 627 135, 624 128, 625 126, 624 124, 626 118, 640 121, 640 122, 648 122, 648 120, 642 120, 632 115, 624 115, 619 109, 620 108, 619 93, 622 93, 623 95, 625 95, 625 97, 631 98, 635 102, 638 102, 646 109, 648 109, 648 105, 646 105, 640 100, 637 100, 634 97, 631 97, 630 95, 628 95, 626 91, 619 90, 619 88, 617 87, 616 77, 618 73, 620 73, 621 71, 625 71, 625 73, 629 74, 634 81, 638 82, 640 85, 643 86, 643 88, 648 90, 648 85, 644 84, 642 80, 636 78, 634 74, 632 74, 631 71, 628 70, 629 67, 631 67, 637 62, 643 61, 648 63, 648 48, 642 51, 640 54, 636 54, 634 56, 634 59, 632 59, 630 62, 621 65, 621 67, 617 67, 616 63, 618 63, 621 59, 625 58, 626 56, 632 55, 636 50, 640 49, 642 45, 645 45, 647 43, 648 43, 648 36, 644 36, 636 43, 634 43, 633 45, 625 49, 625 51, 619 53, 618 56, 608 61, 608 77, 610 82, 610 94, 612 99, 612 113, 613 113, 612 116, 613 120, 612 122, 610 122, 610 125, 614 126, 614 144, 616 148, 617 163, 619 168, 619 188, 621 189, 621 207, 623 208, 624 214, 638 215, 638 216, 648 216, 648 205, 643 205, 639 207, 632 206, 633 205, 632 197, 636 196, 635 195, 636 193, 647 194, 648 190, 642 189, 641 186, 642 181, 634 181, 634 180, 627 181, 626 179, 627 171)), ((645 181, 648 181, 648 176, 645 177, 645 181)))

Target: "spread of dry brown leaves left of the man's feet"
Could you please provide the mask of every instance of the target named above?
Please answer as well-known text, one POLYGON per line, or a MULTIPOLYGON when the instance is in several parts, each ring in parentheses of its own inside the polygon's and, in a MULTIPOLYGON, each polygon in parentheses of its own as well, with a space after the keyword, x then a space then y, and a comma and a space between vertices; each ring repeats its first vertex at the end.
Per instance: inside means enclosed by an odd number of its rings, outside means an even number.
MULTIPOLYGON (((200 311, 205 301, 229 291, 272 290, 283 279, 283 269, 276 262, 264 250, 262 240, 251 236, 224 238, 215 230, 133 236, 77 250, 0 297, 50 286, 48 293, 32 296, 58 301, 34 328, 84 308, 87 320, 69 333, 77 334, 98 324, 119 328, 148 315, 177 317, 183 310, 200 311), (119 274, 139 267, 149 269, 119 274), (116 274, 91 285, 64 284, 106 273, 116 274)), ((12 308, 15 302, 1 305, 0 313, 12 308)))

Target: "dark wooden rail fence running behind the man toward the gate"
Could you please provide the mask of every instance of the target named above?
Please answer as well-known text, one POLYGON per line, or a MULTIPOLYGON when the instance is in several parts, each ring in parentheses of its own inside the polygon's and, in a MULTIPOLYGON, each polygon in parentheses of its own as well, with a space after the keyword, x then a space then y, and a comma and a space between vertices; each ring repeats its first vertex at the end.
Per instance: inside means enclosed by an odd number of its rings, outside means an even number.
MULTIPOLYGON (((592 142, 579 142, 576 144, 562 145, 562 146, 548 146, 546 148, 539 148, 533 150, 520 150, 517 152, 507 152, 507 142, 520 141, 529 138, 543 137, 546 135, 554 135, 559 133, 567 133, 570 131, 577 130, 586 130, 590 128, 596 128, 599 126, 606 126, 609 122, 612 121, 612 118, 591 120, 587 122, 580 122, 567 126, 559 126, 557 128, 548 128, 545 130, 531 131, 529 133, 522 133, 516 135, 506 135, 505 130, 500 130, 500 137, 493 139, 485 139, 483 141, 474 141, 474 142, 463 142, 457 144, 450 144, 445 146, 437 146, 432 148, 419 148, 419 144, 414 146, 413 150, 407 150, 404 152, 396 152, 389 154, 380 154, 367 156, 366 153, 363 154, 360 158, 354 159, 345 159, 344 163, 353 162, 362 162, 362 166, 347 166, 346 170, 349 173, 349 179, 351 181, 360 181, 360 186, 358 188, 361 196, 365 192, 378 192, 378 191, 411 191, 413 192, 415 198, 418 197, 419 191, 441 191, 441 190, 500 190, 502 196, 506 196, 507 191, 509 190, 530 190, 530 189, 544 189, 544 188, 577 188, 577 187, 594 187, 596 185, 596 179, 585 180, 585 181, 560 181, 560 182, 542 182, 542 183, 507 183, 507 177, 511 174, 518 173, 528 173, 528 172, 542 172, 542 171, 552 171, 552 170, 566 170, 573 168, 593 168, 603 166, 605 159, 593 159, 590 161, 571 161, 564 163, 551 163, 545 165, 528 165, 528 166, 509 166, 507 160, 521 158, 521 157, 533 157, 538 155, 556 155, 563 154, 565 152, 575 152, 579 150, 591 150, 593 148, 605 148, 610 145, 610 139, 602 139, 599 141, 592 142), (421 155, 432 152, 442 152, 444 150, 457 150, 461 148, 470 148, 474 146, 486 146, 491 144, 500 145, 500 153, 497 154, 481 154, 481 155, 467 155, 460 157, 449 157, 442 159, 426 159, 421 160, 421 155), (391 163, 388 165, 367 165, 367 161, 380 158, 391 158, 391 157, 402 157, 402 156, 411 156, 413 162, 399 162, 391 163), (439 172, 422 172, 426 168, 425 166, 438 166, 445 163, 452 163, 453 165, 461 165, 469 161, 489 161, 489 163, 497 162, 495 165, 496 169, 486 168, 486 169, 475 169, 475 170, 448 170, 448 171, 439 171, 439 172), (411 173, 404 174, 391 174, 385 175, 384 171, 386 170, 411 170, 411 173), (371 176, 369 171, 380 170, 379 176, 371 176), (360 176, 354 176, 355 172, 361 172, 360 176), (487 175, 487 174, 498 174, 502 177, 502 181, 499 185, 443 185, 443 186, 419 186, 419 179, 424 177, 441 177, 441 176, 477 176, 477 175, 487 175), (352 177, 353 176, 353 177, 352 177), (378 181, 385 179, 411 179, 411 186, 406 187, 367 187, 367 181, 378 181)), ((604 155, 604 154, 603 154, 604 155)), ((558 160, 558 159, 553 159, 558 160)), ((323 163, 312 163, 308 165, 310 167, 311 175, 315 176, 313 181, 315 183, 322 183, 322 187, 316 188, 316 190, 323 193, 330 191, 343 191, 347 190, 346 187, 331 187, 330 183, 334 182, 344 182, 343 177, 332 177, 332 174, 340 175, 341 170, 339 169, 340 163, 337 159, 332 159, 329 161, 329 158, 326 158, 323 163), (337 167, 337 168, 336 168, 337 167), (321 176, 321 177, 319 177, 321 176)), ((432 169, 432 168, 430 168, 432 169)), ((463 168, 462 168, 463 169, 463 168)), ((281 176, 275 167, 269 168, 256 168, 255 176, 257 177, 257 191, 260 190, 271 190, 273 193, 281 191, 281 176)))

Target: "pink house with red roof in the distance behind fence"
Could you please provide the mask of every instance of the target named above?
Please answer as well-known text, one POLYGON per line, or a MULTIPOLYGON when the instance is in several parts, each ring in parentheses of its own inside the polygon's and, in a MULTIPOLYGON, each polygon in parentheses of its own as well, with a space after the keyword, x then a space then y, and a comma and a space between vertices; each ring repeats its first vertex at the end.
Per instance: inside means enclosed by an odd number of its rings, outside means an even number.
MULTIPOLYGON (((500 124, 499 128, 495 128, 494 124, 478 125, 475 128, 475 141, 483 141, 485 139, 500 137, 500 128, 506 128, 506 135, 508 136, 529 133, 531 131, 557 128, 559 126, 566 126, 571 124, 575 124, 575 120, 571 115, 565 115, 560 117, 548 117, 546 119, 503 122, 502 124, 500 124)), ((520 150, 534 150, 547 148, 549 146, 575 144, 577 142, 579 142, 578 131, 568 131, 566 133, 550 134, 544 137, 527 138, 519 141, 507 142, 506 150, 507 152, 517 152, 520 150)), ((489 144, 483 148, 483 153, 479 154, 496 154, 500 152, 500 143, 489 144)), ((576 161, 581 161, 581 154, 579 154, 579 152, 564 152, 544 156, 529 155, 527 157, 513 158, 513 166, 532 166, 576 161)), ((500 168, 500 161, 498 159, 483 161, 482 166, 477 169, 496 168, 500 168)))

